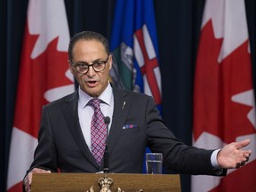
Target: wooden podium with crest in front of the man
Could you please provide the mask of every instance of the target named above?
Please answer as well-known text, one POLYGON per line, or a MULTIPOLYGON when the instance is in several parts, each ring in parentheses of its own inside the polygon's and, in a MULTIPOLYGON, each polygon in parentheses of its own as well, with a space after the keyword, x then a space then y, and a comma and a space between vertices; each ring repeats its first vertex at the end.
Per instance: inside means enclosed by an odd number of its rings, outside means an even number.
POLYGON ((31 192, 156 192, 181 191, 179 174, 40 173, 33 174, 31 192), (101 180, 100 180, 101 179, 101 180), (103 180, 102 180, 103 179, 103 180), (99 184, 110 183, 109 190, 99 184))

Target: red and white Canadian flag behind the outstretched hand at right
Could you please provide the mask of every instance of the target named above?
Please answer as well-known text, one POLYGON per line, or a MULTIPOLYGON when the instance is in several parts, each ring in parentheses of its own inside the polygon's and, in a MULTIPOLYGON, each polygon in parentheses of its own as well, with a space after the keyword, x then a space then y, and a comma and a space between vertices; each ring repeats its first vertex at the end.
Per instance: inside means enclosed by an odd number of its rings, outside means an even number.
POLYGON ((205 1, 195 78, 194 145, 222 148, 249 138, 252 156, 226 177, 193 176, 192 191, 256 191, 256 116, 244 1, 205 1))

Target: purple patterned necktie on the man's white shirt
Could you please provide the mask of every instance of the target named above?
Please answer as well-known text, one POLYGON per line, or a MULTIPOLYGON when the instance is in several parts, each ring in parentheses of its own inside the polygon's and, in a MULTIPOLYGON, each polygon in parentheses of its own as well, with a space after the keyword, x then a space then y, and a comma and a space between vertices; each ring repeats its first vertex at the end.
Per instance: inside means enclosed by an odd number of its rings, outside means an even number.
POLYGON ((100 99, 92 99, 88 103, 94 108, 91 124, 92 156, 100 165, 106 147, 107 125, 100 110, 100 99))

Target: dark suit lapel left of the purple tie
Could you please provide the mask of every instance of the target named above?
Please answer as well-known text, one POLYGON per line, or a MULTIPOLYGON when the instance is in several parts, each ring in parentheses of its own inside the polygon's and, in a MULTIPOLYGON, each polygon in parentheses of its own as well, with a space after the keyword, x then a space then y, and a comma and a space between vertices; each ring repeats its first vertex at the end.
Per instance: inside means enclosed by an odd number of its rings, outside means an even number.
POLYGON ((96 163, 90 149, 88 148, 84 140, 84 135, 79 124, 77 108, 78 91, 76 90, 71 98, 68 98, 68 100, 66 100, 65 105, 63 105, 62 111, 67 119, 68 127, 74 137, 74 140, 76 141, 78 148, 80 148, 80 150, 83 152, 85 158, 87 158, 88 161, 90 161, 96 168, 98 168, 99 165, 96 163))

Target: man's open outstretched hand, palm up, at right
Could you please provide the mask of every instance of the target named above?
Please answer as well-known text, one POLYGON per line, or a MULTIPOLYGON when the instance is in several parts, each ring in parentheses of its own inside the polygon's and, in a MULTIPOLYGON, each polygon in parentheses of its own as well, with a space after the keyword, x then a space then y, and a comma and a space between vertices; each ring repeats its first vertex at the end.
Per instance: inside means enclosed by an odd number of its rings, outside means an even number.
POLYGON ((232 142, 222 148, 217 156, 217 161, 223 169, 235 169, 243 166, 251 156, 252 150, 242 150, 249 145, 250 140, 232 142))

